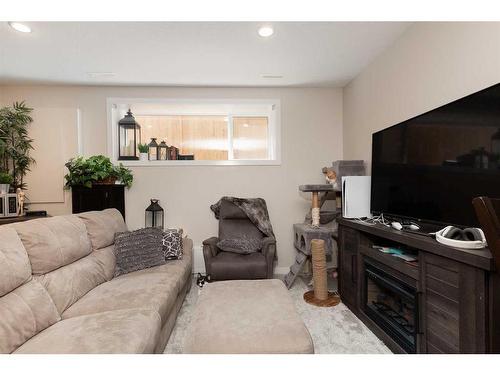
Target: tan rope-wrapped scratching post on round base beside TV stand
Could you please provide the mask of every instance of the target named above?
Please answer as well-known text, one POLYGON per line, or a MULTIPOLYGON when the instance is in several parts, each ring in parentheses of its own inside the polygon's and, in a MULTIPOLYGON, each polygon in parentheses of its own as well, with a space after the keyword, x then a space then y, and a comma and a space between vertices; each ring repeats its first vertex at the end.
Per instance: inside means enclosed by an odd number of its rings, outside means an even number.
POLYGON ((339 296, 328 292, 326 276, 325 241, 311 240, 314 290, 304 294, 304 300, 315 306, 329 307, 340 302, 339 296))

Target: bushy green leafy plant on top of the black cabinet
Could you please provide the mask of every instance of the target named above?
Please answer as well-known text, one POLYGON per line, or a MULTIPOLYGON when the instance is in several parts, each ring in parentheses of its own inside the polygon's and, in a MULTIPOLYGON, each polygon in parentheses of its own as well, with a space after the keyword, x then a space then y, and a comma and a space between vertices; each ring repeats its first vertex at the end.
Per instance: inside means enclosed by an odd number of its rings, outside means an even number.
POLYGON ((122 164, 113 165, 104 155, 89 158, 79 156, 69 160, 65 165, 68 168, 68 173, 64 176, 67 188, 76 185, 91 188, 92 185, 114 184, 116 181, 130 188, 134 179, 130 169, 122 164))

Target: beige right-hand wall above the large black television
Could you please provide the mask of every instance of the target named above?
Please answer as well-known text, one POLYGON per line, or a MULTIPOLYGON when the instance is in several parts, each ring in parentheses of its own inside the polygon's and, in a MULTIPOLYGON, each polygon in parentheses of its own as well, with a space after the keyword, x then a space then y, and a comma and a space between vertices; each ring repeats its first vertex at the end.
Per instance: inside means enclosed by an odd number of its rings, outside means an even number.
POLYGON ((344 158, 369 161, 374 131, 498 82, 500 23, 417 23, 344 88, 344 158))

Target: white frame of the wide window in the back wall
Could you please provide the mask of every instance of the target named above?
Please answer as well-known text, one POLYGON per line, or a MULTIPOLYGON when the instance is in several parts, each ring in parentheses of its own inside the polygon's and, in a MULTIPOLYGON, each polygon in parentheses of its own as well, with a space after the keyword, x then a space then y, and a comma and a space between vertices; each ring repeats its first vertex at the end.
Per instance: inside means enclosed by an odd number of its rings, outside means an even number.
MULTIPOLYGON (((164 99, 164 98, 107 98, 106 108, 108 115, 107 124, 107 153, 115 163, 122 163, 127 167, 165 167, 165 166, 194 166, 194 165, 281 165, 281 103, 279 99, 164 99), (228 108, 238 105, 264 105, 268 110, 262 111, 238 111, 230 110, 228 113, 210 113, 210 115, 223 115, 228 117, 228 155, 232 154, 232 118, 233 117, 257 117, 268 118, 268 152, 269 159, 246 159, 246 160, 118 160, 118 106, 127 106, 134 103, 170 103, 170 104, 214 104, 224 105, 228 108)), ((168 112, 165 113, 134 113, 137 116, 146 115, 190 115, 190 112, 168 112)), ((201 114, 201 113, 196 113, 201 114)))

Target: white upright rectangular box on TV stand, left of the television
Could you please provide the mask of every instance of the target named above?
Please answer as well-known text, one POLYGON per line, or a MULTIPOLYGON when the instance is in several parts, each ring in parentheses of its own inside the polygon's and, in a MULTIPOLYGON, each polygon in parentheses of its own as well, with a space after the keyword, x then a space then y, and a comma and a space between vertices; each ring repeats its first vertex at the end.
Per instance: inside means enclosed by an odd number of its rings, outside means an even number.
POLYGON ((342 216, 347 219, 371 217, 371 176, 342 177, 342 216))

